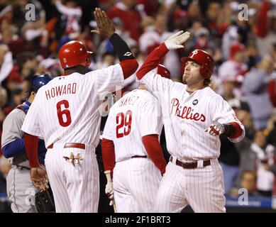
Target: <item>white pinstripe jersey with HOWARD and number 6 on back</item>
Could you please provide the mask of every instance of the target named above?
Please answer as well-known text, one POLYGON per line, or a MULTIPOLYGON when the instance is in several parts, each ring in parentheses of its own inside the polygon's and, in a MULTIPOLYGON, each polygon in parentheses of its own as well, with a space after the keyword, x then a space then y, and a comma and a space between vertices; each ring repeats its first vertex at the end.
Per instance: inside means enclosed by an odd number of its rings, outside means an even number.
POLYGON ((26 115, 22 131, 52 143, 99 143, 101 103, 123 86, 121 65, 55 77, 41 87, 26 115))

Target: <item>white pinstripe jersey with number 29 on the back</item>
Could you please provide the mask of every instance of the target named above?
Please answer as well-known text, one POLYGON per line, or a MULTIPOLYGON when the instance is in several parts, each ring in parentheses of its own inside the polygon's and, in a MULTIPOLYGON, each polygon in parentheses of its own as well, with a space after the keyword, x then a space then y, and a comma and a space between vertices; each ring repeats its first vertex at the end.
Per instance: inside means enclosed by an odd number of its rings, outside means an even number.
POLYGON ((134 155, 147 155, 144 135, 162 130, 160 104, 150 92, 135 89, 111 107, 103 138, 114 141, 116 162, 134 155))

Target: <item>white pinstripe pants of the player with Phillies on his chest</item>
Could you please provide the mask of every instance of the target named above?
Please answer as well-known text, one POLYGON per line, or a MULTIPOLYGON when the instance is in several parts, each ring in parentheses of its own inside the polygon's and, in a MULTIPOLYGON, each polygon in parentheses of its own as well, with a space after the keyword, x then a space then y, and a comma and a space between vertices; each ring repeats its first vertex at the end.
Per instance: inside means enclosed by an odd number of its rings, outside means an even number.
POLYGON ((172 162, 167 164, 155 211, 179 213, 187 204, 194 212, 226 212, 223 172, 217 159, 197 169, 183 169, 172 162))

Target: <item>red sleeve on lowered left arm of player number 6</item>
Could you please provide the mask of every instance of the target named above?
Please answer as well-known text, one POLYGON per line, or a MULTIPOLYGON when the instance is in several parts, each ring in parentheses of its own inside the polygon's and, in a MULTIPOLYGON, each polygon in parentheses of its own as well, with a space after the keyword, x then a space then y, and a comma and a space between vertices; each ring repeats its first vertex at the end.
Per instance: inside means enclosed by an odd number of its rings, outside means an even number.
POLYGON ((25 133, 24 142, 31 168, 38 167, 38 136, 25 133))

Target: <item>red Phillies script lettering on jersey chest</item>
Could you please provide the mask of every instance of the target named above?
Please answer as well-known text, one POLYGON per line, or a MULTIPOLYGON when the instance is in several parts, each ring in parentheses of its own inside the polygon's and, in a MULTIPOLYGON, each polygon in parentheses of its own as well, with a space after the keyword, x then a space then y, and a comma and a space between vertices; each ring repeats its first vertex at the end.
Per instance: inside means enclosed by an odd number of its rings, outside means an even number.
POLYGON ((182 119, 194 120, 194 121, 205 121, 204 114, 192 113, 192 108, 187 106, 180 106, 180 101, 176 98, 171 101, 172 109, 170 114, 175 114, 175 116, 179 116, 182 119))

